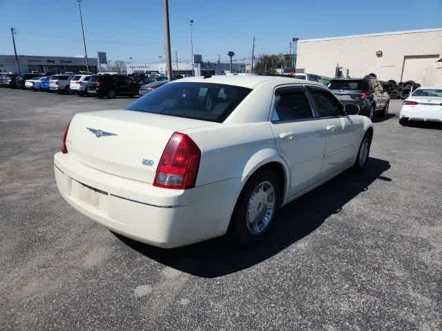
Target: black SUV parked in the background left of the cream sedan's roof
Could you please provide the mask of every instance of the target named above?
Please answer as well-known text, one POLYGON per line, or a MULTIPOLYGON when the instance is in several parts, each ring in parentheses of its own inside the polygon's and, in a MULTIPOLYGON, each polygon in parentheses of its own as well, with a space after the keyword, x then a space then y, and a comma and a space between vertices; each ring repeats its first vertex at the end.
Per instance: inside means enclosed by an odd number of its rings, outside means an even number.
POLYGON ((119 95, 133 97, 140 90, 140 84, 131 77, 119 74, 102 74, 90 77, 88 81, 88 94, 97 97, 115 98, 119 95))

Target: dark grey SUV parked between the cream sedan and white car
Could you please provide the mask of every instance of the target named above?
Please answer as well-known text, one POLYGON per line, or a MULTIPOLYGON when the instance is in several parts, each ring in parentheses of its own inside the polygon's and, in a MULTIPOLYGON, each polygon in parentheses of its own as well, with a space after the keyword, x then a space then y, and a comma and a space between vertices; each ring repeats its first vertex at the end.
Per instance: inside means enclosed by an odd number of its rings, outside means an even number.
POLYGON ((328 88, 343 105, 352 103, 361 109, 359 114, 373 119, 375 112, 387 116, 390 97, 381 84, 372 77, 334 78, 328 88))

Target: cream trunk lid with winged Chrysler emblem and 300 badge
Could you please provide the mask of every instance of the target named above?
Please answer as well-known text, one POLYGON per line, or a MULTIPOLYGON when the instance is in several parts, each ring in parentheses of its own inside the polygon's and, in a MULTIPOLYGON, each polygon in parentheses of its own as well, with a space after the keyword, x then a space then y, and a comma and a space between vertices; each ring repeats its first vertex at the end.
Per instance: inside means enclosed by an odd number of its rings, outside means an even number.
POLYGON ((76 114, 66 145, 77 161, 92 168, 153 183, 173 132, 218 123, 130 110, 76 114))

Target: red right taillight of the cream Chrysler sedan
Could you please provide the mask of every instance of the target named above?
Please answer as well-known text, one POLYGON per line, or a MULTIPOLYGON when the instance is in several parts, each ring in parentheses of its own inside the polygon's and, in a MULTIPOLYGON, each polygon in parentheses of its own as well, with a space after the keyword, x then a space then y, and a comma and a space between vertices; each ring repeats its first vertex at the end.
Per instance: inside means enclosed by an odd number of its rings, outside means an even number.
POLYGON ((164 148, 153 185, 186 190, 194 188, 201 150, 187 134, 175 132, 164 148))

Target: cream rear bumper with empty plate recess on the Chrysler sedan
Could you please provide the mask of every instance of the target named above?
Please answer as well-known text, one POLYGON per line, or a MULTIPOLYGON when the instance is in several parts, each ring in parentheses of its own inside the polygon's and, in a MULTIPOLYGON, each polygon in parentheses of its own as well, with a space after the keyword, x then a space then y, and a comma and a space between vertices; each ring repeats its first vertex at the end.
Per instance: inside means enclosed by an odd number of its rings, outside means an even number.
POLYGON ((162 248, 218 237, 227 231, 240 179, 190 190, 156 188, 55 154, 61 196, 82 214, 119 234, 162 248))

